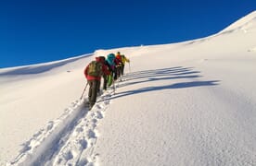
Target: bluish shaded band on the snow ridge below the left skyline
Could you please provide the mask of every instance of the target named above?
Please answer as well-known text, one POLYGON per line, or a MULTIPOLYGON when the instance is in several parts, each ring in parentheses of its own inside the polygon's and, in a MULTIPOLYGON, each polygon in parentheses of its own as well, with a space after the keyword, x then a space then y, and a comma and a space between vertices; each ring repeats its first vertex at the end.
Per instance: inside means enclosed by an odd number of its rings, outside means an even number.
MULTIPOLYGON (((87 56, 89 56, 89 55, 90 54, 88 54, 87 56)), ((78 61, 80 59, 83 59, 84 57, 86 57, 86 56, 81 56, 81 57, 78 57, 78 58, 72 58, 70 60, 64 60, 64 61, 60 61, 58 63, 49 64, 49 65, 21 66, 21 67, 18 67, 16 69, 13 69, 13 70, 0 73, 0 76, 40 74, 40 73, 44 73, 46 71, 49 71, 49 70, 51 70, 55 67, 58 67, 58 66, 61 66, 61 65, 66 65, 66 64, 69 64, 69 63, 74 62, 74 61, 78 61)))

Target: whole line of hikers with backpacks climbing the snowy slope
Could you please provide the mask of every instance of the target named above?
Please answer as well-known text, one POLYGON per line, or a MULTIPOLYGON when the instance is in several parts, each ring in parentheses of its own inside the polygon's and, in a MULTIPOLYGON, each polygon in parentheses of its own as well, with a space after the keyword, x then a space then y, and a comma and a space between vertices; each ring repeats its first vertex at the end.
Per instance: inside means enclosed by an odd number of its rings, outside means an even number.
POLYGON ((103 77, 103 90, 107 90, 114 81, 123 75, 125 63, 130 63, 130 60, 120 52, 109 53, 107 57, 97 56, 96 60, 92 61, 84 69, 84 76, 89 85, 89 110, 96 103, 97 94, 100 93, 100 82, 103 77))

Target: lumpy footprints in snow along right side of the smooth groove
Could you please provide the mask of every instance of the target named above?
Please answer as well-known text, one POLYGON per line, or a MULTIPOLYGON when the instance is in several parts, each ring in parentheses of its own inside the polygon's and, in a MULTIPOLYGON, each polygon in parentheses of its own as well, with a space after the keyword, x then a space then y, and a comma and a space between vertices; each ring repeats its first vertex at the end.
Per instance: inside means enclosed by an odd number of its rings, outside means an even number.
POLYGON ((76 125, 68 141, 50 165, 95 165, 97 154, 94 154, 94 148, 98 136, 96 126, 97 122, 104 118, 109 105, 109 94, 110 91, 99 97, 93 109, 76 125))

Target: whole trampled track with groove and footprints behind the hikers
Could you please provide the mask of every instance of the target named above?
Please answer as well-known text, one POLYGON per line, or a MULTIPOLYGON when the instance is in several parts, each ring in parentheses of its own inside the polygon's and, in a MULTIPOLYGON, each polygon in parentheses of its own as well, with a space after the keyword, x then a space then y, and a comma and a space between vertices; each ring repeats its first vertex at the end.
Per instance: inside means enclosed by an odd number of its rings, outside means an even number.
POLYGON ((104 118, 112 94, 109 89, 98 97, 91 111, 84 99, 73 101, 58 119, 23 143, 19 155, 6 165, 95 165, 96 126, 104 118))

